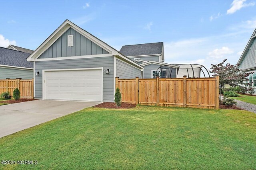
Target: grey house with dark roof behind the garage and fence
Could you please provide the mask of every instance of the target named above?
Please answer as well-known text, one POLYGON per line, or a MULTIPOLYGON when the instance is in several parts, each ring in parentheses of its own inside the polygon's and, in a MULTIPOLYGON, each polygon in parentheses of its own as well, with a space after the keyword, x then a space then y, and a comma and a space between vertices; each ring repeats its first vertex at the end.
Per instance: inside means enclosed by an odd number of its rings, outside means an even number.
MULTIPOLYGON (((146 43, 136 45, 124 45, 120 53, 126 55, 132 61, 144 67, 143 78, 153 78, 160 66, 168 65, 164 62, 164 43, 146 43)), ((173 65, 162 67, 159 76, 162 78, 176 78, 179 66, 173 65), (170 74, 170 76, 168 76, 170 74)))

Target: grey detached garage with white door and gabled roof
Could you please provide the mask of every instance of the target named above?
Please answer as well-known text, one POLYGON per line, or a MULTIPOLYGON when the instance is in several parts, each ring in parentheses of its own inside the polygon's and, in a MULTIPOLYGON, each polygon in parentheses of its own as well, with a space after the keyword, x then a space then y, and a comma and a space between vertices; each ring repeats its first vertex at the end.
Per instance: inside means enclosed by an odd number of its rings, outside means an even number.
POLYGON ((69 20, 27 60, 38 99, 114 102, 115 77, 141 77, 144 69, 69 20))

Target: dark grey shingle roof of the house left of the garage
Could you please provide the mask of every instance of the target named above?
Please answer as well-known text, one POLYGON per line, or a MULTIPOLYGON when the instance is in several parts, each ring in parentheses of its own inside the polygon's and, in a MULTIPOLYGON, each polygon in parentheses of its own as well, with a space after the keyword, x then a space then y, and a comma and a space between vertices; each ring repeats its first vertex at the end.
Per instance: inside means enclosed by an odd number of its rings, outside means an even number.
POLYGON ((33 62, 27 61, 28 56, 30 56, 29 53, 0 47, 0 64, 2 65, 34 68, 33 62))

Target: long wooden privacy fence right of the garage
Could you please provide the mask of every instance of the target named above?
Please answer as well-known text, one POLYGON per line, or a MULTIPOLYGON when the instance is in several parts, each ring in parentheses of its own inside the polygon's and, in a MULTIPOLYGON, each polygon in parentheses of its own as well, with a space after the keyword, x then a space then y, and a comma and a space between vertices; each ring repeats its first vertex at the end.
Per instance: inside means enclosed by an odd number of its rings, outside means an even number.
POLYGON ((119 79, 122 103, 219 109, 219 76, 119 79))

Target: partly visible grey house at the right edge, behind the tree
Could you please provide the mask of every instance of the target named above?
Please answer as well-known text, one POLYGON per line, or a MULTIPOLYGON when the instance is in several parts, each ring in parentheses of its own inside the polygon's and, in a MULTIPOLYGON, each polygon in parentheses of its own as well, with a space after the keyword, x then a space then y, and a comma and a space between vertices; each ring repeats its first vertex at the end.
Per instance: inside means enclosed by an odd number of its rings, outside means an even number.
POLYGON ((237 68, 243 72, 254 72, 248 78, 252 86, 256 88, 256 29, 250 37, 237 64, 237 68))

